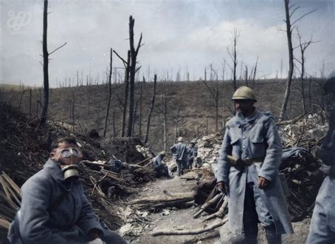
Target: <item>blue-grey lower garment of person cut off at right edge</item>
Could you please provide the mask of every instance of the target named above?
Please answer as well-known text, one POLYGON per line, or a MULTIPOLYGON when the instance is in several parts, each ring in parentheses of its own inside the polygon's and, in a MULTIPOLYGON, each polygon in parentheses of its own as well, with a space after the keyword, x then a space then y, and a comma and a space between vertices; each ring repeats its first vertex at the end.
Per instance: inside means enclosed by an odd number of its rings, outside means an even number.
POLYGON ((310 223, 307 244, 335 243, 335 181, 329 176, 319 189, 310 223))

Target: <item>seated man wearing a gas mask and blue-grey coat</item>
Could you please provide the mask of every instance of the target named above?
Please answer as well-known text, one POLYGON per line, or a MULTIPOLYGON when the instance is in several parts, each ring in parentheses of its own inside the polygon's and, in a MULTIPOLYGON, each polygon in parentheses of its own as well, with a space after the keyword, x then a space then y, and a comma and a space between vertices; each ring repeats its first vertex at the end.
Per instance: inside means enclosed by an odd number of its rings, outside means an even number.
POLYGON ((98 222, 79 181, 82 159, 76 139, 63 137, 52 143, 50 158, 42 170, 21 187, 22 202, 11 223, 8 239, 13 244, 127 243, 98 222))

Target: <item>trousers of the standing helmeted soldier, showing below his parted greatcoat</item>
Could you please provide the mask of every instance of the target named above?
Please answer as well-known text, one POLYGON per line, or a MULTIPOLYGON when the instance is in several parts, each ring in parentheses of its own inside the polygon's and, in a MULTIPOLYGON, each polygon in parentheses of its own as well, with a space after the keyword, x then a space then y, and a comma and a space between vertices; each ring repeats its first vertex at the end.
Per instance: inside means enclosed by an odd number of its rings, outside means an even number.
POLYGON ((257 243, 258 226, 261 222, 266 231, 266 240, 268 243, 281 243, 281 235, 276 235, 274 219, 261 199, 259 189, 254 183, 247 183, 245 188, 245 205, 243 214, 243 228, 246 243, 257 243))

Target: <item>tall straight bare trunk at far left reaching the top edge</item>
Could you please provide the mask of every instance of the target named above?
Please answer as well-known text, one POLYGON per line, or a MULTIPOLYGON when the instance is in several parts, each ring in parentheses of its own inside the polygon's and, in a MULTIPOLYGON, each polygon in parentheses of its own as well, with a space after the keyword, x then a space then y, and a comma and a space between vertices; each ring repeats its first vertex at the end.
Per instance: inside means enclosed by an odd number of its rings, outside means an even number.
POLYGON ((47 122, 47 107, 49 105, 49 52, 47 52, 47 6, 48 0, 44 0, 42 37, 44 100, 40 124, 45 124, 45 122, 47 122))

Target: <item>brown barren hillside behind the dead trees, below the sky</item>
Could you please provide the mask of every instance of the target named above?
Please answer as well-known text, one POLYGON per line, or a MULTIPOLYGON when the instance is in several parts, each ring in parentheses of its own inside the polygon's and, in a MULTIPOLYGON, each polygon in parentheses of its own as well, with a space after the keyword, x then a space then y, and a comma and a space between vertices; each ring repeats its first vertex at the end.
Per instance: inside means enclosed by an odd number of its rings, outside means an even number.
MULTIPOLYGON (((308 82, 306 82, 308 83, 308 82)), ((322 81, 312 80, 305 91, 307 110, 318 109, 322 104, 322 81), (310 86, 310 88, 309 88, 310 86)), ((218 87, 218 130, 224 122, 233 115, 233 86, 230 82, 207 81, 208 87, 215 94, 218 87)), ((241 83, 242 85, 242 83, 241 83)), ((114 85, 112 103, 107 124, 107 136, 119 136, 122 124, 122 104, 124 100, 124 86, 114 85)), ((281 110, 285 81, 257 81, 253 84, 257 95, 257 107, 261 110, 270 110, 277 117, 281 110)), ((62 122, 76 132, 86 134, 96 129, 101 135, 105 124, 107 108, 107 85, 79 86, 71 88, 57 88, 50 90, 49 115, 52 120, 62 122), (73 128, 71 124, 75 124, 73 128)), ((40 113, 42 90, 3 92, 6 100, 31 116, 40 113), (22 97, 22 98, 21 98, 22 97), (21 100, 21 103, 20 103, 21 100), (20 103, 20 104, 19 104, 20 103)), ((143 140, 146 133, 148 111, 153 93, 153 83, 136 83, 136 121, 134 136, 143 140), (142 106, 140 98, 141 87, 142 106), (140 108, 142 107, 142 108, 140 108), (140 114, 141 111, 141 114, 140 114), (140 128, 141 120, 141 128, 140 128)), ((216 107, 213 95, 208 91, 203 81, 158 82, 156 89, 155 108, 151 119, 149 144, 155 151, 163 150, 163 116, 160 112, 162 96, 167 98, 167 148, 173 143, 176 136, 184 136, 187 141, 216 131, 216 107)), ((300 82, 293 81, 293 88, 288 103, 288 119, 302 114, 302 99, 300 82)))

